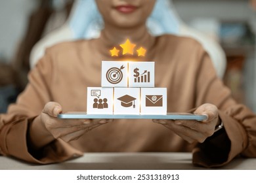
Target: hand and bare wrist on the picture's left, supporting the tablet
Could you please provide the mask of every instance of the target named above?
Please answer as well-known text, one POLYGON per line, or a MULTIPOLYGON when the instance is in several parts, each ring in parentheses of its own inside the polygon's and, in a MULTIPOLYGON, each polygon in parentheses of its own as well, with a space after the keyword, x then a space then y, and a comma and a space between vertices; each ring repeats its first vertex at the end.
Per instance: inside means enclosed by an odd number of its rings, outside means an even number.
POLYGON ((112 120, 58 119, 57 116, 61 112, 62 107, 58 103, 49 102, 45 105, 41 114, 30 126, 30 142, 33 148, 41 148, 54 139, 74 141, 95 127, 112 122, 112 120))

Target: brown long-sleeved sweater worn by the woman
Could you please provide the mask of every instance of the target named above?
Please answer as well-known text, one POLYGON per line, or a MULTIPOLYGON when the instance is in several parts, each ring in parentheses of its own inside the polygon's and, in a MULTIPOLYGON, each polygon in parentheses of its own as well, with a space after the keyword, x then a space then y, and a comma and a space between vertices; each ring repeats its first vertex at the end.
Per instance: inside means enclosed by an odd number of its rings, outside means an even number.
POLYGON ((219 108, 223 130, 192 146, 152 120, 114 120, 77 141, 56 139, 33 152, 26 138, 28 126, 47 102, 60 103, 64 112, 87 110, 87 87, 100 86, 101 61, 106 60, 93 50, 93 42, 64 42, 47 50, 31 71, 26 90, 8 113, 0 116, 1 154, 35 163, 54 163, 83 152, 192 151, 193 163, 205 167, 224 165, 240 154, 256 156, 255 114, 232 99, 198 42, 173 35, 156 38, 156 54, 150 59, 156 64, 155 87, 167 88, 167 111, 186 112, 212 103, 219 108))

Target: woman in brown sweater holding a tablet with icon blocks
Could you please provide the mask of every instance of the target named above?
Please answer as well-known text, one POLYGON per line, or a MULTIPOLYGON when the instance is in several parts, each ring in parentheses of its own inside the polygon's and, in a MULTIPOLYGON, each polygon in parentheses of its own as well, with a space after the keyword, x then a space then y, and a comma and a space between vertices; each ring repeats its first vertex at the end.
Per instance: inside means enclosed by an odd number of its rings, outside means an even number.
MULTIPOLYGON (((95 1, 105 25, 100 38, 47 50, 17 103, 0 116, 2 154, 53 163, 83 152, 192 151, 193 163, 205 167, 224 165, 238 154, 256 155, 255 114, 230 97, 198 42, 173 35, 152 37, 145 24, 153 0, 95 1), (155 85, 167 88, 167 110, 190 110, 207 115, 207 120, 56 118, 60 112, 86 110, 85 90, 100 86, 101 61, 114 60, 109 50, 127 38, 147 50, 144 58, 129 59, 155 61, 155 85)), ((127 56, 115 59, 123 58, 127 56)))

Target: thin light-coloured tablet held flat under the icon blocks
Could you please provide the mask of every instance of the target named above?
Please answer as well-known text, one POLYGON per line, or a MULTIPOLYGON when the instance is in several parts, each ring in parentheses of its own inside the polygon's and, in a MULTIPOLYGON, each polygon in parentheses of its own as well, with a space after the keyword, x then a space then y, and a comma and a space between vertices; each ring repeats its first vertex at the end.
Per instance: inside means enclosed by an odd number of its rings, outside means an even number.
POLYGON ((68 112, 58 114, 60 119, 158 119, 158 120, 206 120, 205 115, 190 113, 167 113, 167 114, 87 114, 86 112, 68 112))

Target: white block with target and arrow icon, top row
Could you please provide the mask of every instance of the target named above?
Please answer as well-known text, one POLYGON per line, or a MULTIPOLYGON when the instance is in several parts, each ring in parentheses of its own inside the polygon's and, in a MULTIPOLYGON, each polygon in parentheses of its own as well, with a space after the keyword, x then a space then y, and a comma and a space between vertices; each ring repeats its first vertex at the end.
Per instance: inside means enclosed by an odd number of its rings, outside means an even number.
POLYGON ((102 87, 127 87, 128 62, 127 61, 102 61, 101 69, 102 87))

